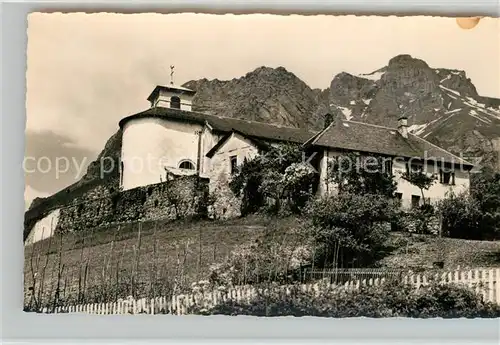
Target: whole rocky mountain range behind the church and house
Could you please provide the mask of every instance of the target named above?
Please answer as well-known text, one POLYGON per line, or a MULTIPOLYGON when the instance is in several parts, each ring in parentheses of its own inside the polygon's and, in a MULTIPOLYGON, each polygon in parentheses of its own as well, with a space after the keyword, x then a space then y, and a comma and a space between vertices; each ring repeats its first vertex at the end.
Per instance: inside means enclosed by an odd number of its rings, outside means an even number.
MULTIPOLYGON (((369 74, 339 73, 325 90, 310 88, 283 67, 259 67, 232 80, 200 79, 182 86, 197 92, 194 111, 315 130, 322 129, 326 113, 390 127, 406 114, 412 133, 452 153, 481 165, 498 159, 491 140, 500 137, 500 99, 480 96, 464 71, 431 68, 410 55, 398 55, 369 74)), ((53 197, 68 200, 75 187, 95 184, 100 157, 118 160, 120 149, 117 132, 86 175, 53 197)), ((116 176, 117 171, 109 174, 116 176)), ((53 197, 35 199, 31 207, 53 204, 53 197)))

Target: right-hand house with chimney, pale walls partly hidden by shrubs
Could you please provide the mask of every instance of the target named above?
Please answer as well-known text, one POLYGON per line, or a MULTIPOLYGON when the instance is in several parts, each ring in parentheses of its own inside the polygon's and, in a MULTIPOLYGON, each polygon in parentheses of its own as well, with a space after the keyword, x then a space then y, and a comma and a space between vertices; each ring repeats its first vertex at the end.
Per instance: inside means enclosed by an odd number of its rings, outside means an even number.
MULTIPOLYGON (((401 117, 398 128, 383 127, 363 122, 326 117, 323 131, 304 144, 304 149, 317 154, 320 174, 319 193, 335 193, 328 168, 335 159, 347 152, 356 152, 360 157, 378 157, 382 168, 392 174, 397 182, 396 196, 404 207, 420 205, 420 189, 402 178, 402 173, 423 171, 434 175, 436 182, 426 190, 426 201, 442 199, 450 191, 459 193, 469 188, 470 171, 473 165, 464 159, 408 132, 408 120, 401 117)), ((354 166, 354 164, 352 164, 354 166)))

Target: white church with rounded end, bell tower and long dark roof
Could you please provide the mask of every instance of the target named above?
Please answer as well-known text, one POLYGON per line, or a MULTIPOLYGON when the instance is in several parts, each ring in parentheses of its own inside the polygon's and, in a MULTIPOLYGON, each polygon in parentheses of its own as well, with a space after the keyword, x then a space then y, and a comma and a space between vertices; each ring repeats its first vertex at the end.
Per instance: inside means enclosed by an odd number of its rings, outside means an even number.
POLYGON ((239 212, 231 193, 231 172, 245 158, 268 145, 306 142, 317 131, 192 111, 195 92, 184 87, 156 86, 151 107, 123 118, 120 188, 129 190, 163 182, 167 176, 208 178, 224 217, 239 212))

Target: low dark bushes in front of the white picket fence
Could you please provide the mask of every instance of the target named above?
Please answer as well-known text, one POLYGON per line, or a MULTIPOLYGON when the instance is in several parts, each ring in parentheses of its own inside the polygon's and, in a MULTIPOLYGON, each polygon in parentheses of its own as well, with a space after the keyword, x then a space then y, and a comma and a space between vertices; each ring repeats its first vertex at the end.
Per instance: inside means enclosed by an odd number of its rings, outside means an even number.
POLYGON ((475 292, 457 285, 433 284, 420 289, 388 283, 359 290, 321 289, 319 294, 293 287, 287 295, 259 292, 249 303, 226 301, 212 308, 194 307, 201 315, 496 318, 500 306, 484 302, 475 292))

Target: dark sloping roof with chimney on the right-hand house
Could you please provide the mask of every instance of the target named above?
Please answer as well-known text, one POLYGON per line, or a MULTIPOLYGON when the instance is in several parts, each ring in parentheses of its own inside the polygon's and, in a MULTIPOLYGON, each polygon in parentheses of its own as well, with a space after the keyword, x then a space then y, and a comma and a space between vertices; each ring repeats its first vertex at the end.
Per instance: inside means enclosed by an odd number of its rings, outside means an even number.
POLYGON ((305 146, 322 146, 405 158, 418 157, 472 167, 473 164, 416 136, 404 138, 398 130, 357 121, 336 119, 305 146))

